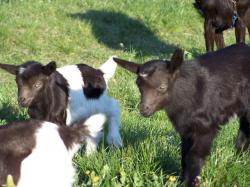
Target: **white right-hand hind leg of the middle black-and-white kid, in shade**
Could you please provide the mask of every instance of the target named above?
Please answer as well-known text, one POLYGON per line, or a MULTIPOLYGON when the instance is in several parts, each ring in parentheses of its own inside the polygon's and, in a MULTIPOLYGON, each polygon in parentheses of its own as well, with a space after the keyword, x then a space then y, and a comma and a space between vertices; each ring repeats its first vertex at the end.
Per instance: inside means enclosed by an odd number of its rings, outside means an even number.
POLYGON ((111 98, 109 112, 108 112, 108 120, 109 120, 109 129, 107 142, 109 145, 114 145, 115 147, 122 146, 122 138, 120 135, 120 106, 119 103, 111 98))

